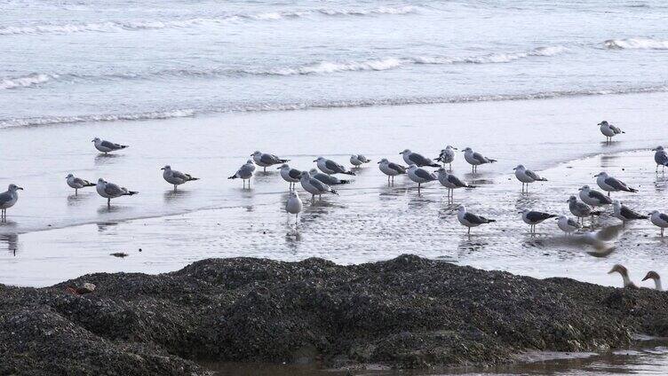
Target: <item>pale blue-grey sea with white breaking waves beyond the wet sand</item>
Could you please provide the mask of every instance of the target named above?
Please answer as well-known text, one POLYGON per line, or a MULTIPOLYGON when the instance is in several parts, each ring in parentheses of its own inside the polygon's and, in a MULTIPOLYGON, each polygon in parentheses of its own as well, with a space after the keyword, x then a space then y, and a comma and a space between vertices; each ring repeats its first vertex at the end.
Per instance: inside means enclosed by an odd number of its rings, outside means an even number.
POLYGON ((663 1, 0 8, 0 128, 668 90, 663 1))

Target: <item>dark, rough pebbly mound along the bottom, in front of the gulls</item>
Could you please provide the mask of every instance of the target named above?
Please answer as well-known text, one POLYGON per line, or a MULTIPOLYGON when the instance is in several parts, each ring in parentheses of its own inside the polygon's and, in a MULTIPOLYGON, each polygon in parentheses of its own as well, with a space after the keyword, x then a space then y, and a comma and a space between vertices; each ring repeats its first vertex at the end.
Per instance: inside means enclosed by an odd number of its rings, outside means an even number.
POLYGON ((500 364, 668 335, 668 294, 539 280, 402 255, 210 259, 183 270, 0 285, 0 374, 199 375, 197 361, 500 364), (66 292, 91 282, 91 294, 66 292))

